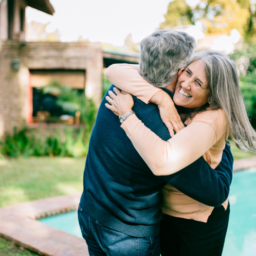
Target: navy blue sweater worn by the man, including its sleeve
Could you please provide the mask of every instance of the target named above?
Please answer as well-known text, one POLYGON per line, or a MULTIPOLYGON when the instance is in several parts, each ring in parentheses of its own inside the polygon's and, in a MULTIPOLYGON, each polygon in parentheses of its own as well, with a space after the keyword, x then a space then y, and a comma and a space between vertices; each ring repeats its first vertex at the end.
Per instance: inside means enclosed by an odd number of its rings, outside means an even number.
MULTIPOLYGON (((113 86, 110 89, 113 90, 113 86)), ((166 92, 173 97, 169 90, 166 92)), ((228 146, 215 170, 200 157, 175 174, 155 176, 120 128, 118 117, 105 107, 105 103, 103 99, 90 137, 84 170, 80 204, 90 216, 119 232, 148 237, 159 234, 162 218, 159 191, 167 182, 203 204, 216 207, 225 202, 233 166, 228 146)), ((160 138, 170 139, 157 105, 147 105, 134 97, 133 110, 160 138)))

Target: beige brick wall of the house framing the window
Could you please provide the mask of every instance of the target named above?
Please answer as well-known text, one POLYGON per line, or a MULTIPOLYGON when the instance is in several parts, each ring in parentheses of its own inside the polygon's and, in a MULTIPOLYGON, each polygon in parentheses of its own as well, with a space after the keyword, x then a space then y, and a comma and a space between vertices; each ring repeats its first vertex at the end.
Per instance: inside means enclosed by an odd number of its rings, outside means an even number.
POLYGON ((29 120, 29 69, 85 69, 85 93, 96 105, 102 98, 100 43, 0 42, 0 137, 29 120), (12 61, 19 58, 19 71, 12 61))

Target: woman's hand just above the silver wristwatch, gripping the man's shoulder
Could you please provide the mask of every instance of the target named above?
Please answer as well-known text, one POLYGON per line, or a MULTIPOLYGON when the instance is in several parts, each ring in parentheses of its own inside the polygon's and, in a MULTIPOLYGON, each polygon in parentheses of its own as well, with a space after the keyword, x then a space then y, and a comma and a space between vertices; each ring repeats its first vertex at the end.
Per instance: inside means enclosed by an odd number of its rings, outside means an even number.
POLYGON ((134 104, 133 97, 131 94, 121 92, 118 88, 114 88, 114 94, 112 90, 109 90, 106 100, 109 104, 105 104, 106 108, 110 109, 115 115, 121 117, 127 112, 132 111, 134 104))

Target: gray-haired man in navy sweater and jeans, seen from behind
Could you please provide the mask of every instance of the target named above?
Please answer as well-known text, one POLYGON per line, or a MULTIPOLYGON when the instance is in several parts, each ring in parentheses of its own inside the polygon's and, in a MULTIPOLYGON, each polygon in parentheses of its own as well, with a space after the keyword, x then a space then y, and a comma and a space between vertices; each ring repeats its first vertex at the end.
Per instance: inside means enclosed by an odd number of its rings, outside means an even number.
MULTIPOLYGON (((153 33, 141 44, 141 75, 156 86, 175 86, 178 70, 188 65, 195 45, 195 40, 184 32, 153 33)), ((163 90, 172 96, 170 90, 163 90)), ((151 98, 150 94, 144 100, 151 98)), ((159 256, 160 190, 168 183, 203 204, 222 205, 232 178, 230 149, 224 149, 215 170, 200 157, 173 175, 157 177, 120 128, 120 122, 132 113, 119 122, 106 103, 103 99, 100 105, 85 164, 78 209, 83 237, 90 255, 159 256)), ((157 105, 144 104, 134 97, 133 110, 160 138, 170 139, 157 105)), ((181 123, 177 126, 182 128, 181 123)))

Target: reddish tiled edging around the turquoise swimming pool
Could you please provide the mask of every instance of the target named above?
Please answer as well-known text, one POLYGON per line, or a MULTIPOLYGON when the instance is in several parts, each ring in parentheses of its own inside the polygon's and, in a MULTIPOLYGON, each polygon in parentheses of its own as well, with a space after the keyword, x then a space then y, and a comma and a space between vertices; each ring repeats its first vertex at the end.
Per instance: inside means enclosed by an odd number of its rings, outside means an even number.
MULTIPOLYGON (((256 166, 256 157, 234 161, 233 171, 256 166)), ((38 222, 39 218, 77 210, 81 193, 55 196, 0 208, 0 235, 46 256, 87 256, 83 239, 38 222)))

